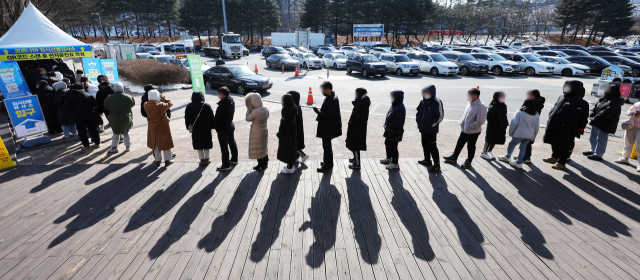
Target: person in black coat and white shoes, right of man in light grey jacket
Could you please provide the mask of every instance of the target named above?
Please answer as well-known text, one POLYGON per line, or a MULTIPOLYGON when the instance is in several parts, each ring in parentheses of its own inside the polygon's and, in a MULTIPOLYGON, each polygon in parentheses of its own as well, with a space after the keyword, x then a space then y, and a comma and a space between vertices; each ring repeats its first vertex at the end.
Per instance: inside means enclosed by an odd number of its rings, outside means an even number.
POLYGON ((504 145, 507 140, 507 104, 504 104, 506 94, 502 91, 493 93, 493 100, 487 110, 487 135, 485 137, 484 149, 480 157, 484 159, 494 159, 493 147, 504 145))

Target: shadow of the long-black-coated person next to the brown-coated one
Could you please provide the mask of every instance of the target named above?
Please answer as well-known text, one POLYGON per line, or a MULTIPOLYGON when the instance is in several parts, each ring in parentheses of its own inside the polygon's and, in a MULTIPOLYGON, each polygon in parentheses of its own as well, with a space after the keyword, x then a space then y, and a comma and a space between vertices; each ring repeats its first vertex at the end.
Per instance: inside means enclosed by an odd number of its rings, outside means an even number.
POLYGON ((147 201, 131 216, 124 232, 137 230, 143 225, 153 222, 171 211, 191 187, 202 178, 204 169, 197 168, 175 180, 166 189, 157 190, 147 201))

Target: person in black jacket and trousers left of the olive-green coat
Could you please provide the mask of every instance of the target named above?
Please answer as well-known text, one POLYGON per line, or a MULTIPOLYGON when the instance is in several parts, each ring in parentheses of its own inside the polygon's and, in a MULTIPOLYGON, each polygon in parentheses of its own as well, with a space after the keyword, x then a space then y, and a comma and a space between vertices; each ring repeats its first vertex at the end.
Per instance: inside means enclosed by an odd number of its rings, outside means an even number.
POLYGON ((98 106, 93 96, 82 90, 81 84, 71 85, 71 90, 67 91, 67 99, 63 108, 72 112, 73 120, 76 122, 78 129, 78 137, 82 142, 82 149, 89 150, 89 139, 87 131, 91 135, 91 141, 95 144, 95 148, 100 147, 100 133, 98 133, 98 124, 93 112, 93 108, 98 106))

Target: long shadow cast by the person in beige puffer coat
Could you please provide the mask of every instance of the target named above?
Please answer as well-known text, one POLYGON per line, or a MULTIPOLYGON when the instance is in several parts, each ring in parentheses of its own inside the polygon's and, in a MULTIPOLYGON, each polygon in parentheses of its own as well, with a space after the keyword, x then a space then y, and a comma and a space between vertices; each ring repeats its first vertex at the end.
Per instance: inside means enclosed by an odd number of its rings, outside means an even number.
POLYGON ((227 238, 229 233, 240 222, 240 219, 242 219, 244 212, 247 211, 249 202, 260 185, 262 176, 264 176, 264 172, 253 172, 253 174, 245 176, 246 183, 240 183, 238 189, 233 193, 229 205, 227 205, 227 210, 213 221, 211 231, 198 241, 199 249, 205 249, 207 252, 213 252, 218 249, 218 246, 227 238), (251 179, 249 179, 250 175, 251 179))

